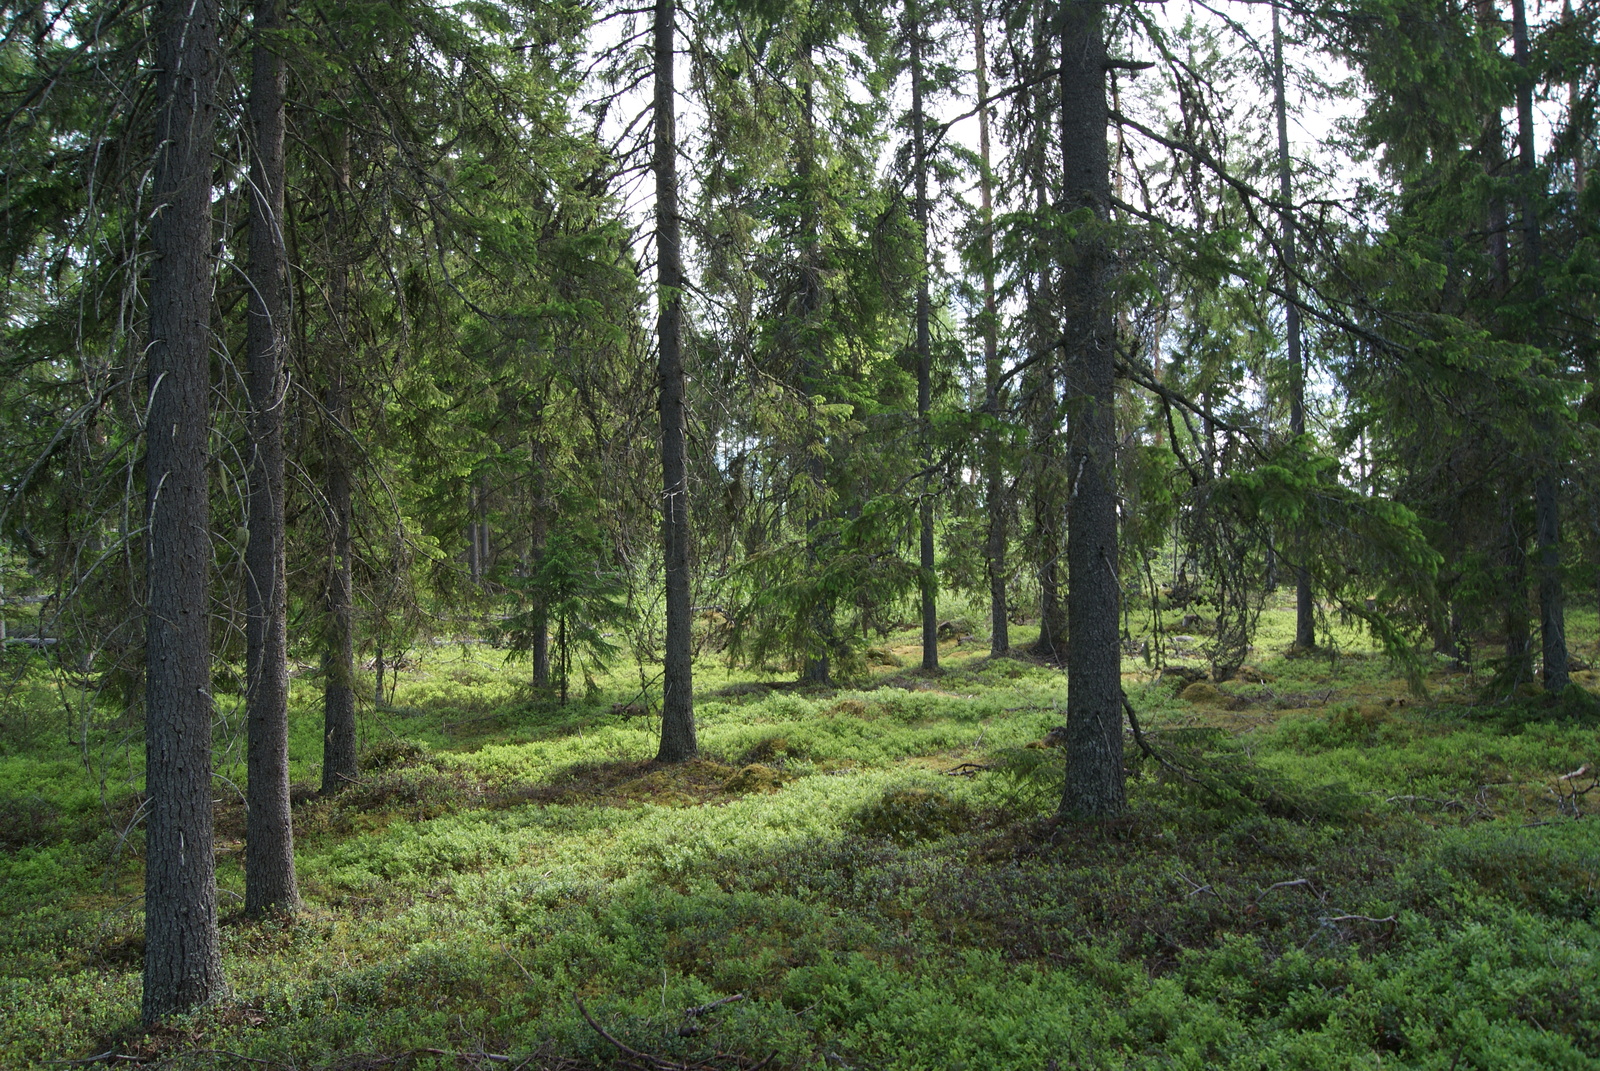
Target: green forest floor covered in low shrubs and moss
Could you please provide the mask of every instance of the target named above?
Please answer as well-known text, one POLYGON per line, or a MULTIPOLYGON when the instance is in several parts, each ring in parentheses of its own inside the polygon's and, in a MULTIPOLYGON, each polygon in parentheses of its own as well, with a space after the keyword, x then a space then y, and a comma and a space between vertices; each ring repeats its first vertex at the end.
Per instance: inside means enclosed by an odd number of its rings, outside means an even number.
MULTIPOLYGON (((1571 631, 1600 661, 1594 615, 1571 631)), ((1168 639, 1200 666, 1203 636, 1168 639)), ((1478 704, 1486 679, 1445 668, 1414 695, 1354 634, 1288 640, 1269 610, 1245 679, 1187 698, 1131 655, 1165 762, 1130 740, 1130 812, 1101 826, 1053 816, 1062 674, 982 637, 923 676, 898 634, 818 690, 706 655, 702 757, 672 768, 632 666, 563 706, 526 663, 437 645, 363 712, 334 799, 302 672, 306 909, 240 917, 235 709, 232 993, 154 1033, 139 733, 85 735, 70 693, 11 674, 0 1066, 1600 1068, 1600 722, 1478 704)))

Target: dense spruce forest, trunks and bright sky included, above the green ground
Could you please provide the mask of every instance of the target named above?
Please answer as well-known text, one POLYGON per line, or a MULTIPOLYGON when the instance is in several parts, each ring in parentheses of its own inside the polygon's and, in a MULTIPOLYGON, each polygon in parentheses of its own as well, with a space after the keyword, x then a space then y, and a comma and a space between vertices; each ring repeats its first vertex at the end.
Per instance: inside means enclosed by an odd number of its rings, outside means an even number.
POLYGON ((291 676, 331 799, 442 642, 662 764, 696 672, 1034 660, 1088 823, 1280 604, 1592 716, 1597 18, 5 5, 0 736, 142 741, 144 1020, 226 986, 213 728, 293 916, 291 676))

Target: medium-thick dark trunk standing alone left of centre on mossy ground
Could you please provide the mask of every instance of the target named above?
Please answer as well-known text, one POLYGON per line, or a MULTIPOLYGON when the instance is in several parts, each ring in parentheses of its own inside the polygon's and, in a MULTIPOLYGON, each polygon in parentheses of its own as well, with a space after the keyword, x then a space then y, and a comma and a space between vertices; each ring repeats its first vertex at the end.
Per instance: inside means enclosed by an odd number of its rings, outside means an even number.
POLYGON ((674 80, 675 0, 656 0, 656 347, 661 376, 661 544, 667 573, 667 644, 661 687, 658 762, 685 762, 694 740, 690 661, 690 487, 683 407, 683 239, 678 218, 678 138, 674 80))

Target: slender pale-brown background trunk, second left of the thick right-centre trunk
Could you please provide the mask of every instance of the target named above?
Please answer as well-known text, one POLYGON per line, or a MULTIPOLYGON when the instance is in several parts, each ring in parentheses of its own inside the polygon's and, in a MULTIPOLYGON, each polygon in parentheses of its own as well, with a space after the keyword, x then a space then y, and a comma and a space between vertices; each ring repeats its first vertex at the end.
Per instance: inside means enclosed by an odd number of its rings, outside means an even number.
POLYGON ((984 42, 987 14, 984 0, 973 0, 973 51, 978 58, 978 186, 982 197, 982 272, 984 272, 984 511, 989 533, 984 564, 989 572, 989 655, 998 658, 1011 650, 1011 616, 1005 594, 1006 551, 1006 487, 1000 456, 1000 314, 995 306, 995 235, 994 174, 989 162, 989 53, 984 42))

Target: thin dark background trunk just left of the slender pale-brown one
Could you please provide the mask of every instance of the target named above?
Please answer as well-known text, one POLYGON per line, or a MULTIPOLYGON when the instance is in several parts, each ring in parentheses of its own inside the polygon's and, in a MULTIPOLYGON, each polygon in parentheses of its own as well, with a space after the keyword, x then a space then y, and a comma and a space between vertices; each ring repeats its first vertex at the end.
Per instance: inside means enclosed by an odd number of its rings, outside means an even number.
MULTIPOLYGON (((910 32, 910 128, 912 168, 917 171, 917 431, 922 439, 922 461, 933 466, 933 339, 928 333, 931 301, 928 298, 928 133, 922 110, 922 14, 917 0, 906 0, 906 22, 910 32)), ((922 477, 917 509, 920 527, 918 581, 922 588, 922 668, 939 669, 939 588, 933 560, 933 474, 922 477)))

